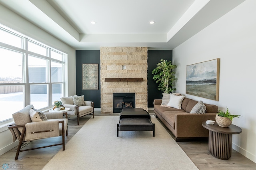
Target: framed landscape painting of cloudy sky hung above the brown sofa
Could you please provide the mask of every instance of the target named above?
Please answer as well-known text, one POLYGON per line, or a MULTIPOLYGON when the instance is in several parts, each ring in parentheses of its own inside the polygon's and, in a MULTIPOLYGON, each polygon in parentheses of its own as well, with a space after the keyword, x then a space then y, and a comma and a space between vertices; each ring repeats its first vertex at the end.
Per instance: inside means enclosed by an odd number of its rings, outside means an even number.
POLYGON ((186 94, 219 101, 220 59, 186 66, 186 94))

